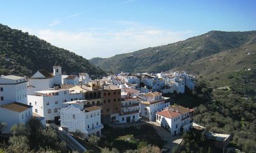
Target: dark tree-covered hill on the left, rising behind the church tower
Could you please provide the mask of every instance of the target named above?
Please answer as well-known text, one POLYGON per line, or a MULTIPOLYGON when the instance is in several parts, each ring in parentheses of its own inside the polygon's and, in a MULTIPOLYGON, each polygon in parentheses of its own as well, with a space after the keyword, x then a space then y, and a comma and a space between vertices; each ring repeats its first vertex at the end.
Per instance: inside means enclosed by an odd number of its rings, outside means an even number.
POLYGON ((31 76, 38 69, 52 72, 56 61, 67 74, 87 72, 95 76, 104 75, 102 69, 73 52, 0 24, 0 75, 31 76))

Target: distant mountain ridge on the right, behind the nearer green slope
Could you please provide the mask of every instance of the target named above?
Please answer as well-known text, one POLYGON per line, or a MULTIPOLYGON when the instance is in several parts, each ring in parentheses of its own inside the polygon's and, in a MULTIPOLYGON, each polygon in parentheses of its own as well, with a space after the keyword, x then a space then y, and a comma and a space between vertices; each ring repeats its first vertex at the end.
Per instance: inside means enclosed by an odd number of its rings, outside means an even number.
POLYGON ((181 66, 185 68, 183 70, 189 71, 189 69, 186 69, 186 66, 189 66, 189 64, 196 60, 225 50, 239 48, 243 45, 255 44, 255 40, 256 31, 209 31, 184 41, 177 41, 176 43, 158 47, 148 47, 104 59, 97 57, 89 61, 113 73, 118 71, 135 73, 143 71, 160 72, 181 66))

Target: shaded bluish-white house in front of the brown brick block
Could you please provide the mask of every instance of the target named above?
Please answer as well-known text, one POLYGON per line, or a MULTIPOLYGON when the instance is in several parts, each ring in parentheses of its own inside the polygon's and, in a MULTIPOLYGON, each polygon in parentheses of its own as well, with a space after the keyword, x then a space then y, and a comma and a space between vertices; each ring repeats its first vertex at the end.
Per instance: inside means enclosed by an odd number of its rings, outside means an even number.
POLYGON ((85 105, 84 101, 70 101, 68 105, 61 108, 61 127, 68 129, 68 132, 81 132, 84 138, 90 135, 101 135, 103 125, 100 122, 100 108, 92 105, 85 105))

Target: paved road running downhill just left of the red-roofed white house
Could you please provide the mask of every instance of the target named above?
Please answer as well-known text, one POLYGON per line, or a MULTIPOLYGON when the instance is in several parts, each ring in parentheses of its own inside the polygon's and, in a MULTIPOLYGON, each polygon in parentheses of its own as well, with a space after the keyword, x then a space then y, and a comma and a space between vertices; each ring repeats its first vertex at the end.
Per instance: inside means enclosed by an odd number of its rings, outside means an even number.
POLYGON ((181 136, 172 136, 169 131, 161 127, 157 122, 146 121, 148 124, 156 129, 157 134, 162 138, 166 139, 170 145, 169 152, 172 152, 173 147, 180 144, 182 141, 181 136))

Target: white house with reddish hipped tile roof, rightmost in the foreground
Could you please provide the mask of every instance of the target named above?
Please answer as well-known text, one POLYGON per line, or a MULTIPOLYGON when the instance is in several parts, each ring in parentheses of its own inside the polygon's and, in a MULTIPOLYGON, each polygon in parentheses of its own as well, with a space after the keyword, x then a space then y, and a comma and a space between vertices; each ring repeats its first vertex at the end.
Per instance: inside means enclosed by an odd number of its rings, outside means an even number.
POLYGON ((156 122, 168 129, 172 135, 177 135, 180 131, 188 131, 191 128, 191 112, 192 109, 183 106, 170 106, 156 113, 156 122))

